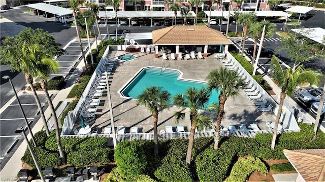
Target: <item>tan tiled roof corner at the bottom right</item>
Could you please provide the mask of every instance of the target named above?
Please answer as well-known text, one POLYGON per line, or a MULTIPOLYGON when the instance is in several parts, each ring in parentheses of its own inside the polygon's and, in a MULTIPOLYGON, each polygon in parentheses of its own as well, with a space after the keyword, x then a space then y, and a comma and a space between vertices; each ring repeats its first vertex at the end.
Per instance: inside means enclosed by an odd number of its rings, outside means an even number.
POLYGON ((305 181, 324 181, 325 149, 283 150, 305 181))

